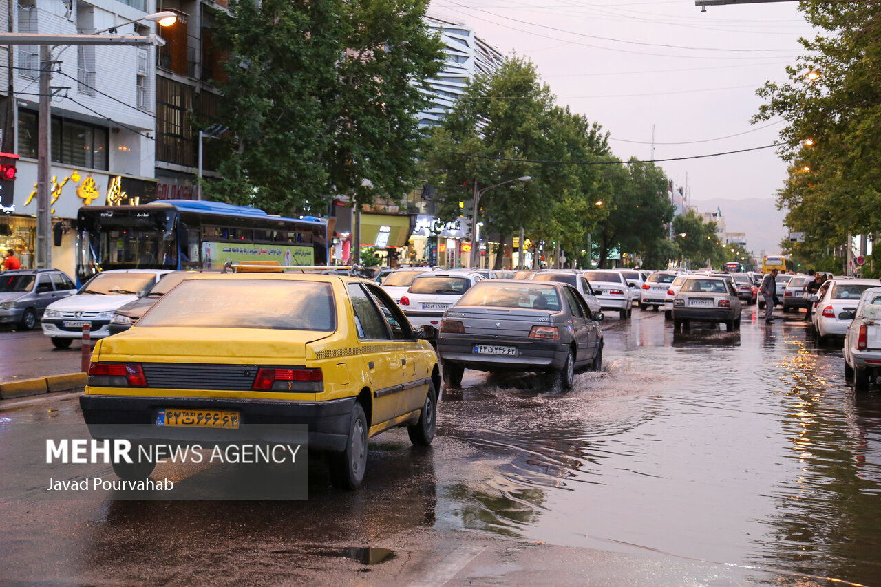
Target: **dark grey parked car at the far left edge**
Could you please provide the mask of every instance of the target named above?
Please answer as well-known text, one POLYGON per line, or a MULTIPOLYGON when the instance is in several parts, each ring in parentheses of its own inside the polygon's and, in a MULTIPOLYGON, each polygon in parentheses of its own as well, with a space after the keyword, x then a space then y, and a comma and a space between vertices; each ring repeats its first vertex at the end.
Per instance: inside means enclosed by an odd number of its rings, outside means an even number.
POLYGON ((0 274, 0 324, 29 331, 53 301, 77 293, 77 286, 57 269, 17 269, 0 274))

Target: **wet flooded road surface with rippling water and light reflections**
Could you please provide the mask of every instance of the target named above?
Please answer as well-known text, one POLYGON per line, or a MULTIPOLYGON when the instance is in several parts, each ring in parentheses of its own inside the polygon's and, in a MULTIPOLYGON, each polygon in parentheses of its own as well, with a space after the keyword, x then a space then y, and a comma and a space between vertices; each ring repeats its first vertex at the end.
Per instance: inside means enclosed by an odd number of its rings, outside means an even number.
POLYGON ((568 393, 466 371, 430 450, 377 437, 353 493, 315 459, 308 502, 37 501, 45 479, 18 448, 87 432, 76 398, 12 407, 0 568, 100 584, 881 584, 881 387, 855 394, 840 346, 752 308, 731 333, 611 318, 603 371, 568 393))

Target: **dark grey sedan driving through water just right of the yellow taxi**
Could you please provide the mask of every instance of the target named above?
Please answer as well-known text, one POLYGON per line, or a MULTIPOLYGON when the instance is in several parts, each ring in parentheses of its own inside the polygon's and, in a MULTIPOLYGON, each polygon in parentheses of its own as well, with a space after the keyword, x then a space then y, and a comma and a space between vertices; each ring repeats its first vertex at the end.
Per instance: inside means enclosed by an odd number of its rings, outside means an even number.
POLYGON ((602 368, 602 319, 565 283, 480 281, 444 312, 438 338, 444 382, 458 387, 466 367, 545 371, 570 389, 575 369, 602 368))

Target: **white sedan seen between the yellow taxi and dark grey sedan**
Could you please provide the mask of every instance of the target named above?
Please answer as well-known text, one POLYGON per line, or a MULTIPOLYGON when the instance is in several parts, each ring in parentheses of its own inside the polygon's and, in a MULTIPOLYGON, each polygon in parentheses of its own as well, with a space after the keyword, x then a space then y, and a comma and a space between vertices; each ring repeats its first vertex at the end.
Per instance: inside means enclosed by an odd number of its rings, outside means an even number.
POLYGON ((479 273, 460 271, 422 273, 413 279, 407 292, 398 300, 398 305, 416 331, 426 325, 440 328, 444 311, 459 301, 470 286, 482 280, 484 277, 479 273))

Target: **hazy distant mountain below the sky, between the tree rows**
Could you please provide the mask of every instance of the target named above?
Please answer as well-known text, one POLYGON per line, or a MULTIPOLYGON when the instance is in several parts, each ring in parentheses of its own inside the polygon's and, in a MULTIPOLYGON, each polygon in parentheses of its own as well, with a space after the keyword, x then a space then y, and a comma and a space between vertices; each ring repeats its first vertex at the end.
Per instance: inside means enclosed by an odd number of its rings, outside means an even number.
POLYGON ((693 198, 689 204, 698 207, 700 212, 722 211, 725 230, 729 233, 746 233, 746 249, 759 255, 780 252, 780 241, 788 235, 783 226, 785 210, 777 210, 774 199, 766 197, 747 197, 743 200, 693 198))

